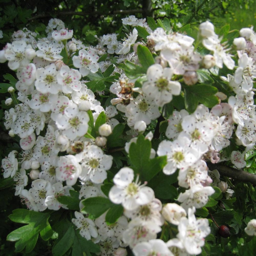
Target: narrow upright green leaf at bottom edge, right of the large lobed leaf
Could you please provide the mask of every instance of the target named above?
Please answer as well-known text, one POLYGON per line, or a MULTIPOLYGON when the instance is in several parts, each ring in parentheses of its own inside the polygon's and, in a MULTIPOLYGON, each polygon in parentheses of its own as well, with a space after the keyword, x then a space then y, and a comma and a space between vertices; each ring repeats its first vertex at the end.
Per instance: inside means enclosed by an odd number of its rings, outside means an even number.
MULTIPOLYGON (((70 222, 69 222, 70 223, 70 222)), ((54 244, 52 254, 54 256, 64 255, 72 246, 75 238, 73 225, 70 223, 64 235, 54 244)))

